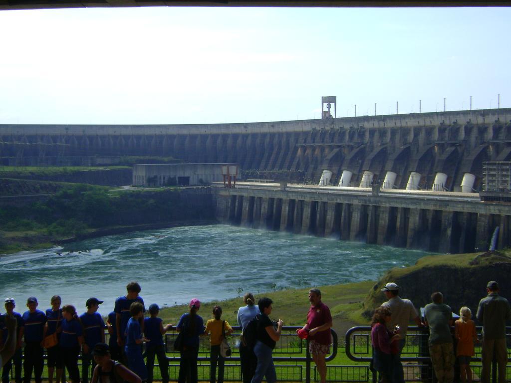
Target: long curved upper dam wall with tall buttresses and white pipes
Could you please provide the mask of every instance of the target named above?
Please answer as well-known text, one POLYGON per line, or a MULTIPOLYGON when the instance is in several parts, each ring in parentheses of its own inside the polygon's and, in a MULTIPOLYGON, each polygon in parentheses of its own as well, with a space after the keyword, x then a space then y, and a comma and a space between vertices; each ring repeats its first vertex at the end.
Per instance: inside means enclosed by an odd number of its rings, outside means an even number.
POLYGON ((4 165, 115 164, 124 156, 237 163, 242 177, 479 191, 511 159, 511 108, 195 125, 0 125, 4 165), (439 178, 438 178, 439 177, 439 178))

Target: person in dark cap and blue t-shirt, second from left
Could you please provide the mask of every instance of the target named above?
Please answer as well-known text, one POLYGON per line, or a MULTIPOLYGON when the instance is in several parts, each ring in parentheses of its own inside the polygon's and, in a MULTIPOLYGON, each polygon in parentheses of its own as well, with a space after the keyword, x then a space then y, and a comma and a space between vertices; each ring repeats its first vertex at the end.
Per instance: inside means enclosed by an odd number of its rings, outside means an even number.
POLYGON ((46 315, 37 309, 36 297, 27 299, 28 311, 23 313, 24 337, 25 337, 25 361, 23 369, 25 370, 24 382, 30 383, 32 371, 34 371, 35 383, 42 381, 42 369, 44 367, 42 340, 44 338, 44 325, 46 324, 46 315))

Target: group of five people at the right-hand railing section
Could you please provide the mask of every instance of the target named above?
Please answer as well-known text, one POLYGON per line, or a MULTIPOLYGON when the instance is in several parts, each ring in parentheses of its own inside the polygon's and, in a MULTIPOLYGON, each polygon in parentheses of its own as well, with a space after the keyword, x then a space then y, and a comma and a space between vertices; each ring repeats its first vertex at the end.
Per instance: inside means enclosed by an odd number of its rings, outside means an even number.
POLYGON ((470 308, 463 306, 459 319, 453 321, 451 307, 444 303, 443 294, 434 292, 431 303, 424 307, 421 318, 409 299, 399 296, 399 286, 387 283, 381 291, 387 301, 375 310, 371 323, 373 343, 373 368, 380 374, 382 383, 404 383, 401 352, 406 342, 410 322, 429 328, 429 355, 439 383, 452 383, 456 358, 463 383, 472 382, 470 362, 474 356, 474 344, 481 342, 481 382, 490 383, 492 361, 498 366, 498 381, 506 381, 507 345, 506 322, 511 320, 507 299, 499 295, 499 284, 490 281, 486 285, 487 296, 477 308, 476 318, 482 323, 482 340, 476 333, 470 308), (453 323, 454 322, 454 323, 453 323), (454 341, 452 327, 454 325, 454 341), (456 347, 454 347, 456 346, 456 347))

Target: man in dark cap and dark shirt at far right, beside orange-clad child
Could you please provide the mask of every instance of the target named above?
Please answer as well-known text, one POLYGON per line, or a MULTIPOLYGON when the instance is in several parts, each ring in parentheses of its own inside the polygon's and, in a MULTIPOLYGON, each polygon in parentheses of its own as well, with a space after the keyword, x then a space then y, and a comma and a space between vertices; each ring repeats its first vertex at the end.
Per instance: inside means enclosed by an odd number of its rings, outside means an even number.
POLYGON ((477 320, 482 323, 481 382, 490 383, 492 360, 495 356, 499 370, 499 383, 506 381, 506 322, 511 320, 509 302, 499 295, 499 284, 486 285, 488 295, 479 301, 477 320))

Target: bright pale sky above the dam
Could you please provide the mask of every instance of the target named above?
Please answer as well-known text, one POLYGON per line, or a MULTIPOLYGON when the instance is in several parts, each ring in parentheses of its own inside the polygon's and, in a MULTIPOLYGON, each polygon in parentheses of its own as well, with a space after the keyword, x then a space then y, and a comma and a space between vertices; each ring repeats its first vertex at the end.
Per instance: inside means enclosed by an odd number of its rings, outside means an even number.
POLYGON ((0 11, 0 124, 511 107, 511 8, 0 11), (333 112, 333 110, 332 110, 333 112))

